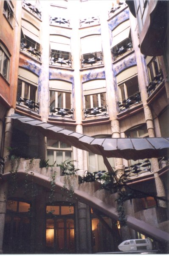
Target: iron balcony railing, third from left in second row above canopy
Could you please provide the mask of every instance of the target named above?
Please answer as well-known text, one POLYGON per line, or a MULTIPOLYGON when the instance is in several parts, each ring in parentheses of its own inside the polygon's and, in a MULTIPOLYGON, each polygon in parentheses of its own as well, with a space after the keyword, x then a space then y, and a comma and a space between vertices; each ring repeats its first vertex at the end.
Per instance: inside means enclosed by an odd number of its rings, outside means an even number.
POLYGON ((85 53, 82 55, 82 67, 93 66, 93 64, 101 65, 103 63, 102 52, 85 53))

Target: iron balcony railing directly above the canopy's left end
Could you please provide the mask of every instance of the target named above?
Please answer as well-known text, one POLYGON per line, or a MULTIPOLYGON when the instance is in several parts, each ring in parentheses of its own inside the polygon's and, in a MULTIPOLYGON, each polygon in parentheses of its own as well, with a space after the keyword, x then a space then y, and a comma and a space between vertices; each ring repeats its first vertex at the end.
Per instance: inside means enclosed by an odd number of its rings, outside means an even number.
POLYGON ((21 105, 24 108, 28 108, 39 113, 39 102, 35 102, 34 100, 27 98, 22 98, 20 94, 17 94, 17 105, 21 105))

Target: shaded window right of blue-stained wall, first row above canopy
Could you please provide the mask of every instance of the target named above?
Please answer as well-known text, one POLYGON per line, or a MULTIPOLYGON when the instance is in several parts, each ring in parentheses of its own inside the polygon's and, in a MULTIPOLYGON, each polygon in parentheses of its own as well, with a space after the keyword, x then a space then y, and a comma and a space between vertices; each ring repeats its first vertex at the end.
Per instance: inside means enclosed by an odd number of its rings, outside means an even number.
POLYGON ((117 76, 118 106, 120 111, 130 108, 131 105, 141 101, 138 84, 137 67, 124 70, 117 76))

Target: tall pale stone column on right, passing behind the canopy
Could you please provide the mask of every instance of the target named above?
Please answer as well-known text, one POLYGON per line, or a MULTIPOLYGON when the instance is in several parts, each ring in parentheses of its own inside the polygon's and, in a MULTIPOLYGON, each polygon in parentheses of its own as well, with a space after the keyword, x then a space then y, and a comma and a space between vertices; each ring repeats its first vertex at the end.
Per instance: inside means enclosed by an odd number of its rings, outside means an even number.
MULTIPOLYGON (((136 58, 137 66, 139 67, 138 68, 138 81, 139 81, 140 91, 141 91, 141 100, 143 102, 143 107, 144 107, 145 121, 146 121, 147 129, 148 129, 149 137, 155 137, 152 113, 151 113, 151 110, 146 102, 146 100, 148 98, 148 94, 146 91, 146 85, 149 84, 147 68, 146 68, 146 61, 144 59, 144 55, 141 54, 140 48, 138 47, 139 41, 138 41, 137 31, 135 31, 136 19, 134 16, 131 15, 131 13, 130 13, 130 23, 132 24, 131 34, 132 34, 132 43, 133 43, 133 46, 135 49, 135 58, 136 58), (134 24, 135 24, 135 26, 134 26, 134 24)), ((152 158, 152 167, 153 167, 153 172, 154 172, 154 177, 155 177, 155 185, 156 185, 157 195, 165 196, 164 186, 161 181, 161 178, 158 175, 159 164, 158 164, 157 158, 152 158)), ((159 201, 158 203, 159 203, 159 206, 166 207, 165 202, 159 201)))

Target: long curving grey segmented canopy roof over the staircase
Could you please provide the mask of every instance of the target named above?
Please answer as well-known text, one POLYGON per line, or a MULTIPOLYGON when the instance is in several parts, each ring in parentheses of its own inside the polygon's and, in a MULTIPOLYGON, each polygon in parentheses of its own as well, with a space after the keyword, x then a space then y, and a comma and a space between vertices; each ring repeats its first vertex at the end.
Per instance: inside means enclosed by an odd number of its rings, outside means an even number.
POLYGON ((33 126, 49 139, 69 143, 76 148, 104 157, 117 157, 126 160, 162 157, 167 156, 169 148, 169 138, 93 138, 28 116, 14 114, 8 117, 16 119, 15 122, 19 122, 20 125, 23 123, 33 126))

